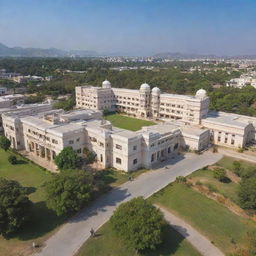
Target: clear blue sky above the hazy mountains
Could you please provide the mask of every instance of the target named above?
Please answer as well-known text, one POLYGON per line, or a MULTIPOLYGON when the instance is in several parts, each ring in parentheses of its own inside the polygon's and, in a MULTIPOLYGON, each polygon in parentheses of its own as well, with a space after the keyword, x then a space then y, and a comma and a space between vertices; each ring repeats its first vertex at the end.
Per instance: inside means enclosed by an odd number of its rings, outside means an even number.
POLYGON ((0 0, 9 46, 256 54, 256 0, 0 0))

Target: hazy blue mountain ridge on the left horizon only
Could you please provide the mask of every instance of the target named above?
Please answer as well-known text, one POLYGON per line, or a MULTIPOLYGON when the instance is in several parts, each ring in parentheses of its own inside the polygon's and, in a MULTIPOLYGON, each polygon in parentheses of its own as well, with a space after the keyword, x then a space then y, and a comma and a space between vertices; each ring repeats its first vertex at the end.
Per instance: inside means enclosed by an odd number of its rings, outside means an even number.
POLYGON ((56 48, 22 48, 8 47, 0 43, 0 57, 94 57, 99 56, 94 51, 71 50, 64 51, 56 48))

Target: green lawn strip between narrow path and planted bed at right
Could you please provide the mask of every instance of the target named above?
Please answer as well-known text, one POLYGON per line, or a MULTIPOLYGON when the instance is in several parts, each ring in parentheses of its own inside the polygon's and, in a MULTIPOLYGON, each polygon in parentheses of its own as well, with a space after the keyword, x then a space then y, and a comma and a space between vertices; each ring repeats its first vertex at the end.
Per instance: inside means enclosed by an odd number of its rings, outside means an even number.
POLYGON ((247 232, 256 229, 255 222, 235 215, 226 207, 184 184, 172 183, 150 200, 190 223, 225 254, 231 253, 236 245, 246 248, 247 232))

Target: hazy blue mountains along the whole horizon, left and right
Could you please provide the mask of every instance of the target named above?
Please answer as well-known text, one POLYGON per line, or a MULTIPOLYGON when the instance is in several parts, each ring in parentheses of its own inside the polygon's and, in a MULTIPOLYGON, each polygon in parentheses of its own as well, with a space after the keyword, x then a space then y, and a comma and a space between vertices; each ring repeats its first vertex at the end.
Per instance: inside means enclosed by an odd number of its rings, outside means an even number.
MULTIPOLYGON (((56 48, 22 48, 8 47, 0 43, 0 57, 100 57, 100 56, 129 56, 121 52, 116 53, 98 53, 96 51, 87 50, 60 50, 56 48)), ((180 52, 162 52, 153 55, 155 58, 170 59, 218 59, 218 58, 237 58, 237 59, 256 59, 256 55, 240 55, 240 56, 217 56, 214 54, 193 54, 180 52)))

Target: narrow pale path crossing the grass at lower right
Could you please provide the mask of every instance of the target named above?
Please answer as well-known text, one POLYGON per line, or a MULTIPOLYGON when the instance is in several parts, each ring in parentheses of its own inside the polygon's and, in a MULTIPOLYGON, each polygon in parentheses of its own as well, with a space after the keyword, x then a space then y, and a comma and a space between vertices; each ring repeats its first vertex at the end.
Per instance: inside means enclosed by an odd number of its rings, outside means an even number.
POLYGON ((224 256, 224 254, 205 236, 201 235, 185 221, 161 207, 159 207, 159 209, 163 212, 165 219, 171 226, 184 236, 202 255, 224 256))

